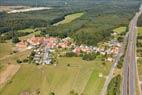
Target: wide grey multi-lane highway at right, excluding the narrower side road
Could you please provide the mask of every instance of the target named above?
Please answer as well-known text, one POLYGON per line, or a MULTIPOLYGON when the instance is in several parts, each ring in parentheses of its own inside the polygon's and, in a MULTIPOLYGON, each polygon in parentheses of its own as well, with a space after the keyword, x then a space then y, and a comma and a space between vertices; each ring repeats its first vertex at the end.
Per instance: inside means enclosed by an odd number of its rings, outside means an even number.
POLYGON ((142 8, 136 13, 129 24, 128 44, 124 57, 122 74, 121 95, 136 95, 136 41, 137 41, 137 20, 142 13, 142 8))

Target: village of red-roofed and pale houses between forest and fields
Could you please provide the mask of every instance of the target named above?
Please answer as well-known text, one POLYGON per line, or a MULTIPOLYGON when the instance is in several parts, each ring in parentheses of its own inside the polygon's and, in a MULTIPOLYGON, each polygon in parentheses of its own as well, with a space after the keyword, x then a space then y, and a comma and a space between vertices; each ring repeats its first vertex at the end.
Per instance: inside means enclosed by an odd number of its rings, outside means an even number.
MULTIPOLYGON (((114 33, 113 33, 114 34, 114 33)), ((116 35, 116 33, 115 33, 116 35)), ((66 56, 67 53, 72 53, 75 56, 82 54, 95 53, 96 56, 103 56, 105 61, 113 62, 116 55, 119 53, 121 43, 115 39, 108 42, 98 44, 98 46, 77 45, 70 37, 64 39, 58 37, 36 37, 32 36, 27 40, 21 40, 16 44, 16 51, 32 49, 33 62, 36 64, 51 64, 53 63, 54 53, 58 57, 66 56), (58 51, 58 52, 57 52, 58 51)), ((55 58, 55 57, 54 57, 55 58)))

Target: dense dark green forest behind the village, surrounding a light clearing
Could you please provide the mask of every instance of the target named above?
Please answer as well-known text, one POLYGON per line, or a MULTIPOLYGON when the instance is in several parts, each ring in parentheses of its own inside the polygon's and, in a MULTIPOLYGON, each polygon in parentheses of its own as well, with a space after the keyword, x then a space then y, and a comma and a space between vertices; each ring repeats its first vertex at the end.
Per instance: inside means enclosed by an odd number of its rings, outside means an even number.
MULTIPOLYGON (((0 34, 7 35, 25 28, 46 27, 41 35, 67 37, 70 36, 78 44, 96 45, 109 39, 112 29, 127 26, 130 19, 139 8, 139 2, 90 2, 71 3, 70 5, 54 6, 52 10, 7 14, 0 13, 0 34), (74 6, 73 6, 74 4, 74 6), (76 5, 76 6, 75 6, 76 5), (75 12, 84 15, 68 24, 53 26, 64 16, 75 12)), ((7 39, 7 37, 5 37, 7 39)))

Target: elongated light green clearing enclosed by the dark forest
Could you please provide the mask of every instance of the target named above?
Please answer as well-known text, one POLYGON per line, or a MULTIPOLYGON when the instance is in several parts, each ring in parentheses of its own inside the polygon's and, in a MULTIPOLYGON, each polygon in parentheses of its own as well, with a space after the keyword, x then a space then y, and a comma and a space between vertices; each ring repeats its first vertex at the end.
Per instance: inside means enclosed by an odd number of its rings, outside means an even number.
POLYGON ((77 19, 77 18, 80 18, 81 16, 83 16, 84 13, 74 13, 74 14, 70 14, 70 15, 67 15, 65 16, 65 19, 54 24, 54 25, 60 25, 60 24, 66 24, 66 23, 70 23, 72 22, 73 20, 77 19))

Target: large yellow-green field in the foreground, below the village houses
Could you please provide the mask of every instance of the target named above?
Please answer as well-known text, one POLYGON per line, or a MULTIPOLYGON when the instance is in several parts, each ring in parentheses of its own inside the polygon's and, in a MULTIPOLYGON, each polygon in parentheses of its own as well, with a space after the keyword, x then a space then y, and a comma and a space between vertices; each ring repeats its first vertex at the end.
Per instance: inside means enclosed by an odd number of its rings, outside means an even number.
POLYGON ((69 95, 71 90, 85 95, 99 95, 111 64, 101 61, 83 61, 81 58, 60 58, 59 64, 22 65, 13 79, 0 90, 0 95, 19 95, 22 91, 39 90, 41 95, 50 91, 56 95, 69 95), (70 64, 68 67, 67 64, 70 64), (99 77, 99 73, 103 77, 99 77))

